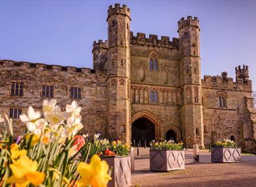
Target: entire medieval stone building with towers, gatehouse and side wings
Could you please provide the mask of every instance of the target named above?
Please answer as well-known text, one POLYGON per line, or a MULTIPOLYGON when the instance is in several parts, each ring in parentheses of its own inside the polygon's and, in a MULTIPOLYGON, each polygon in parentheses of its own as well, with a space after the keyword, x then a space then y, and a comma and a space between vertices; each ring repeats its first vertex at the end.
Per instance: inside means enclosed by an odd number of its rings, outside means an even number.
MULTIPOLYGON (((93 43, 93 69, 0 60, 0 112, 24 125, 18 114, 55 98, 64 107, 83 107, 83 131, 135 142, 174 139, 208 146, 231 138, 245 150, 255 145, 256 111, 247 66, 236 80, 201 79, 200 26, 188 16, 178 22, 179 38, 130 31, 130 10, 108 9, 108 41, 93 43)), ((3 129, 3 127, 1 127, 3 129)))

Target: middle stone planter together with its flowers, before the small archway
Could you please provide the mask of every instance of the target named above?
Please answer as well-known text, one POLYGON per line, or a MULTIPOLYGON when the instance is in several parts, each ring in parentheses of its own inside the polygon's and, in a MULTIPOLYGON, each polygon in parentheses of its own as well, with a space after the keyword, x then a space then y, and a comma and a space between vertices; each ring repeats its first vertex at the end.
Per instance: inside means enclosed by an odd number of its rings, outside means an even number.
POLYGON ((173 171, 185 169, 185 155, 183 143, 168 142, 150 143, 150 170, 151 171, 173 171))

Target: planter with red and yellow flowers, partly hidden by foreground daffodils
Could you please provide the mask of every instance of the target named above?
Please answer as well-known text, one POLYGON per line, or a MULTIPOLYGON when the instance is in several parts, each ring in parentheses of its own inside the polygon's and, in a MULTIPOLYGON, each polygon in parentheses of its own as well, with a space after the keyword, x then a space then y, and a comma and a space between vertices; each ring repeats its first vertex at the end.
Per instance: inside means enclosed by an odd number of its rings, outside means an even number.
POLYGON ((91 142, 89 157, 96 154, 112 168, 112 180, 108 182, 109 187, 131 186, 130 146, 131 144, 123 144, 120 140, 113 142, 106 139, 100 140, 97 135, 91 142))

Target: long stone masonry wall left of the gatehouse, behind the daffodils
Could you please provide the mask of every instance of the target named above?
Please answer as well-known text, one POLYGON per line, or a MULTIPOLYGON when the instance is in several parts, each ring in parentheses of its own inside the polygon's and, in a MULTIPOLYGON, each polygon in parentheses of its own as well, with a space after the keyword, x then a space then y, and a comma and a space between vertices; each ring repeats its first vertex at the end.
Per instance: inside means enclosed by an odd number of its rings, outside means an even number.
MULTIPOLYGON (((72 102, 70 87, 81 87, 81 100, 77 100, 77 103, 82 107, 83 131, 90 135, 95 132, 106 134, 108 125, 105 71, 95 72, 88 68, 46 66, 11 60, 0 62, 0 114, 5 112, 9 115, 10 108, 21 108, 22 113, 26 113, 28 106, 41 110, 43 100, 51 99, 41 96, 42 85, 53 85, 53 98, 64 108, 72 102), (24 96, 11 96, 12 81, 24 83, 24 96)), ((3 128, 0 127, 0 130, 3 128)), ((16 136, 20 135, 23 128, 24 125, 14 119, 16 136)))

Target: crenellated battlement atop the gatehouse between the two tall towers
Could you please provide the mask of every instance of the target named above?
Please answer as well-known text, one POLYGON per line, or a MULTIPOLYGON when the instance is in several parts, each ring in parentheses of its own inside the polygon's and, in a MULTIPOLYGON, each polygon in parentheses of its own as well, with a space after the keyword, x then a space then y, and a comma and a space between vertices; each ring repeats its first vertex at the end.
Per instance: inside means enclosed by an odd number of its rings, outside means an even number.
POLYGON ((131 31, 130 42, 134 45, 147 45, 179 49, 179 38, 176 37, 173 37, 173 40, 170 41, 168 36, 161 36, 161 39, 158 39, 158 35, 149 34, 149 37, 147 38, 145 33, 137 33, 137 36, 134 36, 133 32, 131 31))

